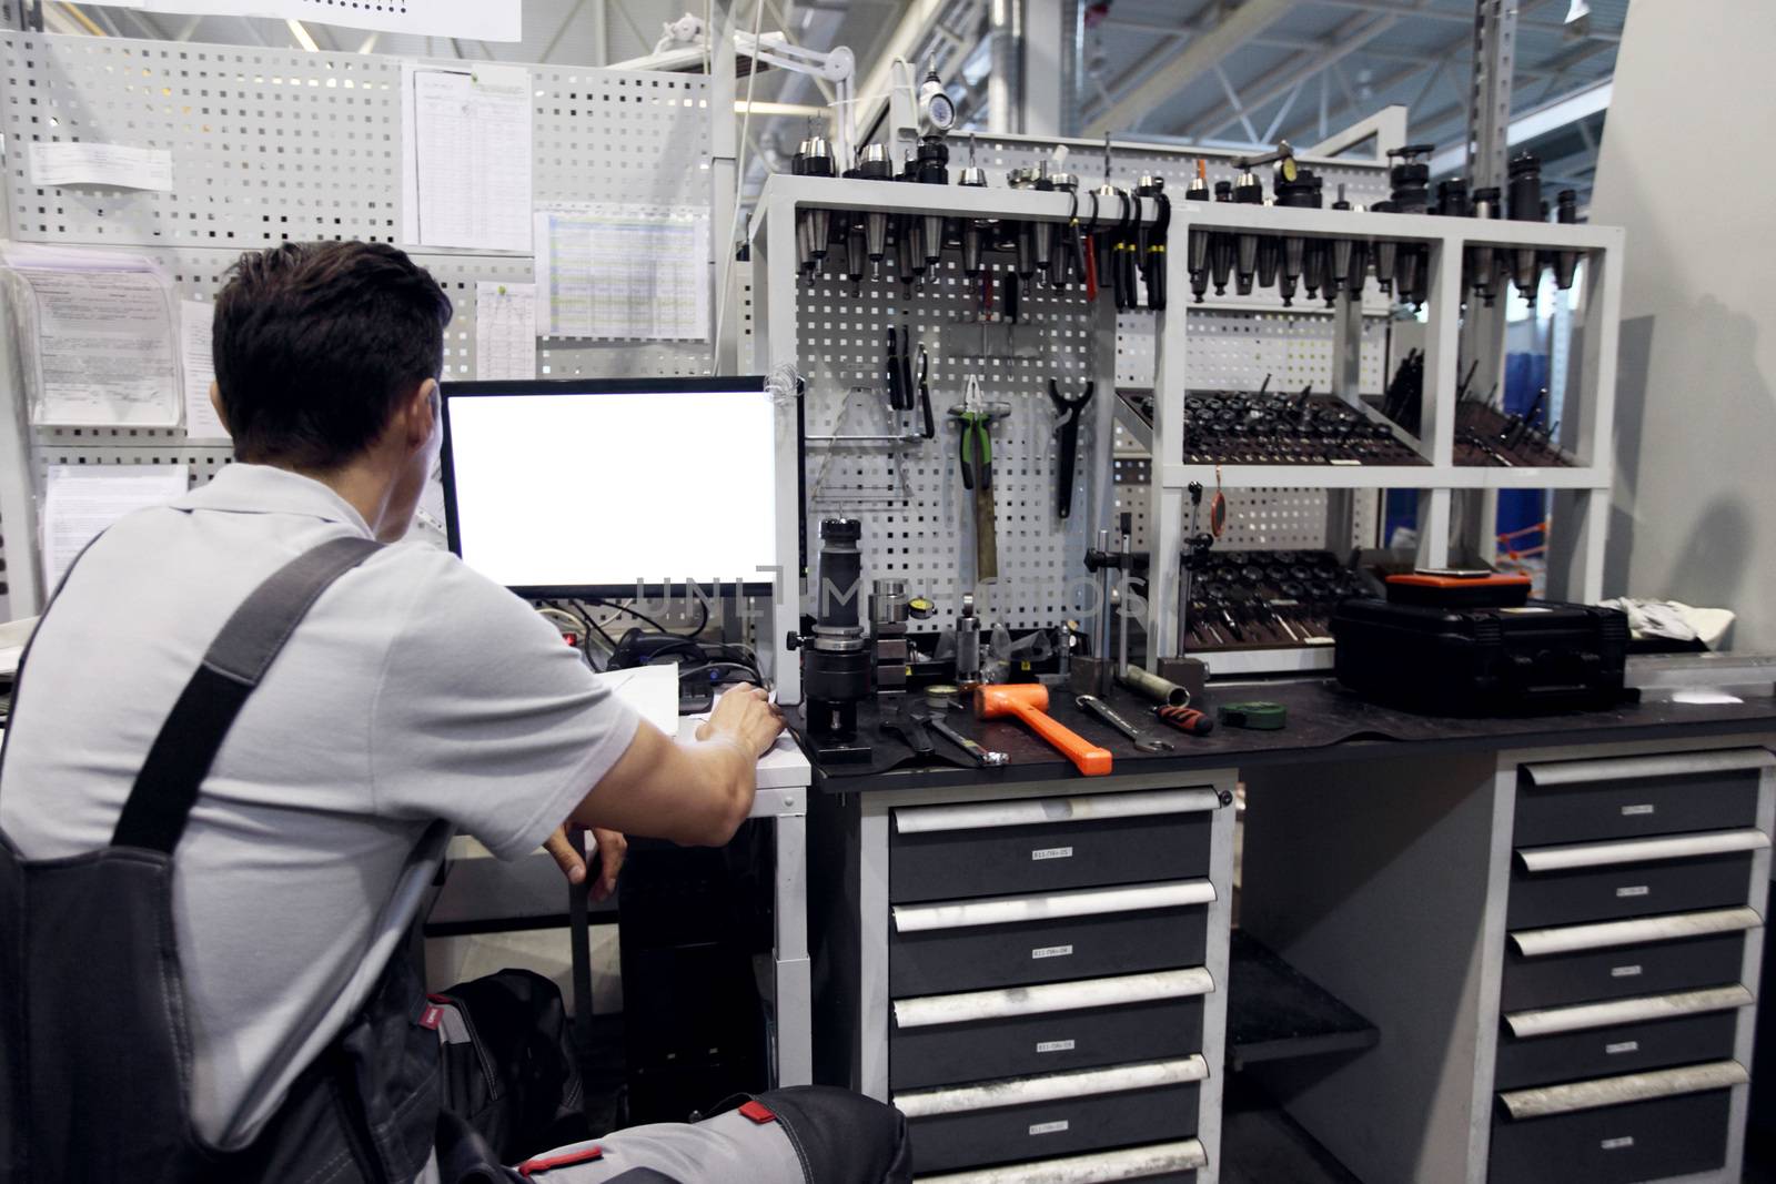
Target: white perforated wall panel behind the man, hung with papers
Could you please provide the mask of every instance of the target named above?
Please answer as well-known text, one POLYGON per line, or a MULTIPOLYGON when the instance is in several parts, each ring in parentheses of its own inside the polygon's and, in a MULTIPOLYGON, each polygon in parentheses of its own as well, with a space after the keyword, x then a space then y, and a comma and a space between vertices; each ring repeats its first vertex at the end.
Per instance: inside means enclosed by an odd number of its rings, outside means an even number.
MULTIPOLYGON (((0 67, 0 162, 18 240, 146 254, 172 277, 179 298, 208 302, 242 250, 398 238, 398 57, 5 32, 0 67), (32 140, 167 149, 174 188, 37 188, 23 149, 32 140)), ((707 78, 533 66, 531 83, 535 201, 709 204, 707 78)), ((414 252, 414 259, 456 305, 446 378, 474 378, 476 282, 529 282, 531 256, 414 252)), ((753 321, 744 264, 735 282, 744 341, 753 321)), ((543 378, 709 369, 703 343, 538 341, 543 378)), ((50 463, 185 463, 195 485, 231 456, 226 442, 192 442, 178 428, 37 428, 32 437, 39 493, 50 463)), ((14 557, 21 534, 28 533, 14 531, 14 557)))

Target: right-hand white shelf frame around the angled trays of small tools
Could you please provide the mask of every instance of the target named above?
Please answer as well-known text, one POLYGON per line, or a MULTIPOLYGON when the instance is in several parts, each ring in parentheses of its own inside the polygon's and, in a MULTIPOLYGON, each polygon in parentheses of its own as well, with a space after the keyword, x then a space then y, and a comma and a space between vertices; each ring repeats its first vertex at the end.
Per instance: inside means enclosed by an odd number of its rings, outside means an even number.
MULTIPOLYGON (((1179 556, 1190 525, 1188 486, 1250 490, 1307 486, 1334 493, 1355 490, 1419 490, 1421 566, 1449 563, 1455 493, 1458 490, 1494 499, 1497 490, 1554 490, 1556 527, 1550 531, 1549 595, 1597 602, 1602 596, 1604 541, 1609 525, 1609 486, 1614 478, 1611 433, 1616 394, 1616 337, 1621 318, 1621 227, 1558 225, 1444 218, 1431 215, 1357 213, 1344 209, 1289 209, 1224 202, 1172 202, 1170 241, 1183 243, 1192 227, 1213 231, 1257 231, 1304 238, 1368 238, 1423 243, 1428 247, 1424 403, 1421 435, 1396 435, 1428 465, 1188 465, 1185 456, 1185 392, 1192 375, 1190 318, 1195 305, 1174 296, 1160 314, 1154 417, 1151 449, 1154 481, 1149 486, 1147 529, 1156 556, 1179 556), (1575 460, 1572 467, 1494 469, 1455 463, 1455 419, 1458 350, 1467 289, 1462 254, 1469 243, 1487 247, 1534 247, 1582 252, 1584 291, 1579 323, 1584 355, 1577 383, 1568 387, 1559 444, 1575 460), (1558 533, 1556 533, 1558 531, 1558 533)), ((1183 250, 1167 252, 1167 286, 1188 293, 1188 261, 1183 250)), ((1371 277, 1366 291, 1375 289, 1371 277)), ((1501 296, 1502 298, 1502 296, 1501 296)), ((1364 410, 1359 394, 1362 316, 1341 300, 1334 312, 1337 364, 1332 391, 1364 410)), ((1481 343, 1497 351, 1501 343, 1481 343)), ((1348 506, 1348 501, 1344 501, 1348 506)), ((1336 531, 1328 531, 1336 533, 1336 531)), ((1149 664, 1177 653, 1177 596, 1183 568, 1177 561, 1154 570, 1147 600, 1149 664)), ((1312 669, 1330 660, 1325 650, 1275 651, 1211 660, 1215 673, 1250 669, 1312 669)))

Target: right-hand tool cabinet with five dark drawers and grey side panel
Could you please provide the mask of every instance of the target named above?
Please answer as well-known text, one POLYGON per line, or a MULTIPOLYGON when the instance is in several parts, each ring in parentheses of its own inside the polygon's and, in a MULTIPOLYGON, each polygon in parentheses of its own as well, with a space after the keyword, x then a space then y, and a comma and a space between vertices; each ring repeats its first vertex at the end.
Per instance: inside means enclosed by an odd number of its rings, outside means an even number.
POLYGON ((1739 1179, 1771 737, 1558 731, 1243 776, 1241 927, 1380 1030, 1257 1072, 1366 1184, 1739 1179))

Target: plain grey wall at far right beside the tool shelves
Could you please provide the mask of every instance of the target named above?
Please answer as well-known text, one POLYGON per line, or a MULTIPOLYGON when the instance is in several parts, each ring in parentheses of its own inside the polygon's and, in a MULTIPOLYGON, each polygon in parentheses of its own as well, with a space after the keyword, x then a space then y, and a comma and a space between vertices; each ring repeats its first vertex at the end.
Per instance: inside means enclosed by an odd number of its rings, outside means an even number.
POLYGON ((1591 220, 1627 227, 1606 595, 1776 651, 1776 9, 1639 0, 1591 220))

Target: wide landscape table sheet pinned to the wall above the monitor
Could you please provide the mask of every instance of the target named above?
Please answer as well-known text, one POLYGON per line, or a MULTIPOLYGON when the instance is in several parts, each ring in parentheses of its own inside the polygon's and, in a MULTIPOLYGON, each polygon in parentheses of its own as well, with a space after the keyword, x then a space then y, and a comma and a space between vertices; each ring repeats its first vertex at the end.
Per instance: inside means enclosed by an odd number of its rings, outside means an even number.
POLYGON ((536 208, 536 320, 549 337, 709 339, 709 209, 536 208))

